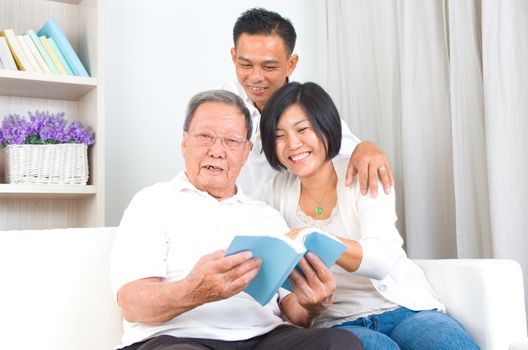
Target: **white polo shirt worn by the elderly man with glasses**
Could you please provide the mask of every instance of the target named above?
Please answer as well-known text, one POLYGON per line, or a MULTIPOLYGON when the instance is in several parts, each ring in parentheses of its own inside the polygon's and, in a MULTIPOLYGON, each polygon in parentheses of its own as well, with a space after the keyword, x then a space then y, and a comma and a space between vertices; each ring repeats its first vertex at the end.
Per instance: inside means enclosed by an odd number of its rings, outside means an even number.
MULTIPOLYGON (((137 193, 126 209, 112 251, 114 293, 147 277, 184 279, 204 255, 228 247, 234 235, 283 235, 288 226, 278 211, 238 193, 218 201, 180 173, 171 182, 137 193)), ((207 303, 171 321, 150 326, 124 321, 122 346, 149 337, 243 340, 284 323, 277 299, 262 307, 246 293, 207 303)))

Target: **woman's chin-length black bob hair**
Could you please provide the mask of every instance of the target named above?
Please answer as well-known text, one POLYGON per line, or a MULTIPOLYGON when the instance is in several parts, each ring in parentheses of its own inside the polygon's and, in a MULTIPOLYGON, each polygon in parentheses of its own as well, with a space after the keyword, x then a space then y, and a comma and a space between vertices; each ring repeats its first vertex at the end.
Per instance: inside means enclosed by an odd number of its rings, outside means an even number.
POLYGON ((284 111, 294 104, 304 110, 316 135, 322 140, 326 160, 334 158, 341 148, 341 117, 330 95, 316 83, 286 84, 270 97, 260 120, 262 150, 270 165, 277 170, 286 169, 275 152, 277 124, 284 111))

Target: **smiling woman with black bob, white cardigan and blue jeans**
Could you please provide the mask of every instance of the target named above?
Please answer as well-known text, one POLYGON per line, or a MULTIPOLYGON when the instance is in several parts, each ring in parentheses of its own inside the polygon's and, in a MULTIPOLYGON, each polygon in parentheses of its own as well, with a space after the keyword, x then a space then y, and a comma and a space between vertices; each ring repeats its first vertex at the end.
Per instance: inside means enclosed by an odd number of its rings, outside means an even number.
POLYGON ((314 83, 290 83, 268 101, 260 122, 271 166, 289 170, 262 193, 290 227, 318 227, 348 248, 331 267, 333 304, 315 326, 353 332, 370 349, 478 349, 460 323, 444 313, 421 269, 407 258, 396 230, 394 191, 363 196, 345 186, 348 159, 339 113, 314 83))

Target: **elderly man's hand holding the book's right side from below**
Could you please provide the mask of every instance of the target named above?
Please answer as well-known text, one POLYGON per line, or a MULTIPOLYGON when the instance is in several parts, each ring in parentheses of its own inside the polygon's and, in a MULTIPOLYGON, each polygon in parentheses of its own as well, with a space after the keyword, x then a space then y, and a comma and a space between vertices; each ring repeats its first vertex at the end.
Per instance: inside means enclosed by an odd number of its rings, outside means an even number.
POLYGON ((304 276, 294 269, 288 281, 299 305, 313 318, 332 305, 336 283, 332 272, 313 253, 306 254, 306 258, 299 261, 299 266, 304 276))

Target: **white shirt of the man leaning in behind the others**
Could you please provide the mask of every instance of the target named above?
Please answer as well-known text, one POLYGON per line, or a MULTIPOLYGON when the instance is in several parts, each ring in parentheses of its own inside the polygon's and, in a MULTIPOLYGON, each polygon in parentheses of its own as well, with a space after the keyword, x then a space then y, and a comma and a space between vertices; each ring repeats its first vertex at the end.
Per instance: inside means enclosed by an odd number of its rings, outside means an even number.
MULTIPOLYGON (((222 88, 240 96, 251 113, 251 119, 253 121, 251 142, 253 143, 253 149, 251 150, 246 164, 242 167, 242 171, 238 176, 237 184, 242 188, 244 193, 256 198, 264 184, 277 173, 277 171, 269 165, 264 152, 262 152, 262 141, 260 139, 259 127, 261 114, 253 102, 248 98, 246 92, 238 81, 225 84, 222 88)), ((339 155, 350 157, 354 148, 361 141, 352 134, 350 128, 343 119, 341 119, 341 128, 343 138, 339 155)))

